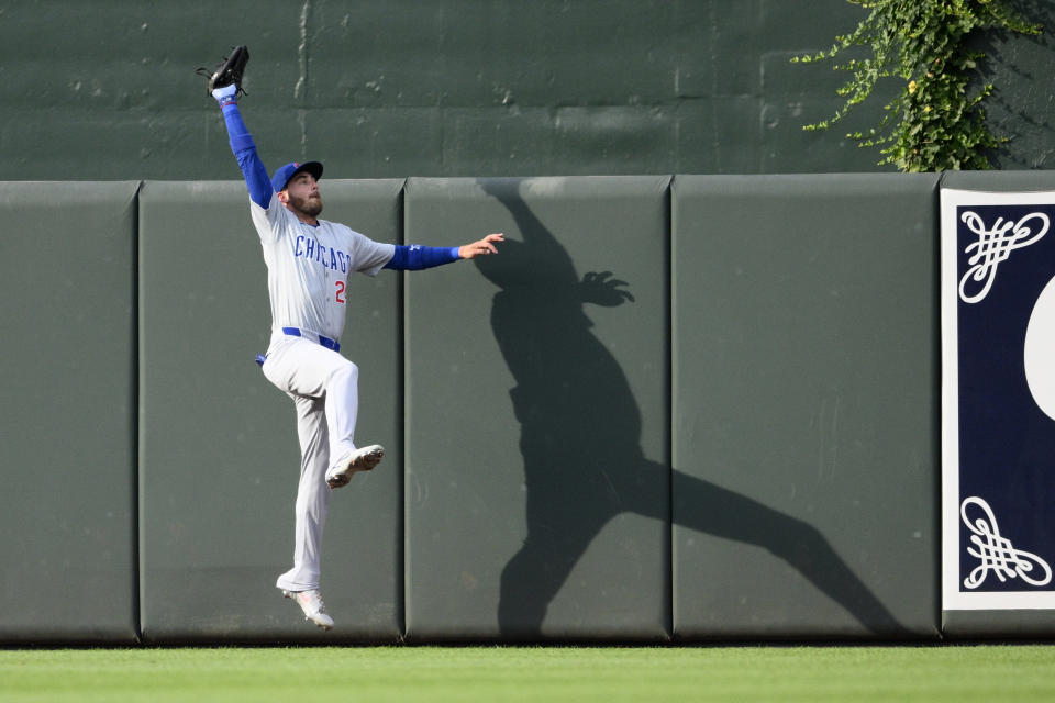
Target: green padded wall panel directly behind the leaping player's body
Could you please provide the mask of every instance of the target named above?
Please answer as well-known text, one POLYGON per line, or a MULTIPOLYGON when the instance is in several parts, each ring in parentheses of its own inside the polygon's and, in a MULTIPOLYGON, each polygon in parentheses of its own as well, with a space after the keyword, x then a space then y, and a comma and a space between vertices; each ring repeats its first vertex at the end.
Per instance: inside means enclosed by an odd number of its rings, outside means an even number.
MULTIPOLYGON (((323 179, 323 216, 399 239, 402 181, 323 179)), ((275 588, 292 559, 291 401, 254 362, 270 328, 245 185, 148 182, 142 200, 141 534, 148 643, 395 640, 401 631, 399 279, 353 277, 342 354, 360 368, 357 438, 385 462, 333 495, 322 594, 304 623, 275 588)))

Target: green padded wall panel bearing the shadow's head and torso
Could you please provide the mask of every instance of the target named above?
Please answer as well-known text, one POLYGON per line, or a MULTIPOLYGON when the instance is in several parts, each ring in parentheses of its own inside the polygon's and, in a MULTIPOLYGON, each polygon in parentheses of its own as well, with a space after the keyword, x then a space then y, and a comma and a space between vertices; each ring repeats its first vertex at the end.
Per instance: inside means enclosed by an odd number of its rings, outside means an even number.
POLYGON ((668 183, 408 181, 408 637, 668 636, 668 183))

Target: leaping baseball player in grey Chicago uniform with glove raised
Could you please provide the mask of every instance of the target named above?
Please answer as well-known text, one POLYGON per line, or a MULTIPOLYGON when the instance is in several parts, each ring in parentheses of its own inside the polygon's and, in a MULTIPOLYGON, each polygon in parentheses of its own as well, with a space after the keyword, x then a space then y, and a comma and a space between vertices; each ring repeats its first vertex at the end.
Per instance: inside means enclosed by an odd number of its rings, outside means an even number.
MULTIPOLYGON (((322 164, 286 164, 270 177, 238 111, 248 51, 236 47, 209 76, 223 112, 231 150, 249 191, 249 214, 267 264, 271 337, 258 357, 264 376, 297 406, 301 468, 297 490, 293 567, 276 585, 310 622, 333 627, 319 594, 320 554, 330 492, 369 471, 379 445, 355 444, 358 368, 338 354, 353 272, 424 269, 497 254, 501 234, 458 247, 380 244, 343 224, 320 220, 322 164)), ((208 75, 208 71, 206 72, 208 75)))

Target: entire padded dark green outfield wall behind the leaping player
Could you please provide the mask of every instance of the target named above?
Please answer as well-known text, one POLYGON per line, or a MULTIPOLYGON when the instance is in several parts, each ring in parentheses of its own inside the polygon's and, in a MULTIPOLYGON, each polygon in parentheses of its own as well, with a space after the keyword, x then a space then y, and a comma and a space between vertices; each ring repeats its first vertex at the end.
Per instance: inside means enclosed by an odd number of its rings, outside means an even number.
POLYGON ((325 180, 377 239, 509 237, 351 287, 388 455, 333 495, 329 634, 274 588, 244 186, 0 183, 0 643, 937 640, 940 178, 325 180))

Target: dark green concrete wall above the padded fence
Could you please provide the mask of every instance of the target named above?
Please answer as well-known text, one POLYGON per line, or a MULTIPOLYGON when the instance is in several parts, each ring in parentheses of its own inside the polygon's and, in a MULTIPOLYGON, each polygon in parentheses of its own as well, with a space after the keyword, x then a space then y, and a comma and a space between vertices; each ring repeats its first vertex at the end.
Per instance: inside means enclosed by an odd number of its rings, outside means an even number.
MULTIPOLYGON (((981 66, 1002 168, 1050 168, 1052 3, 1040 37, 992 37, 981 66)), ((330 177, 893 170, 867 131, 900 88, 828 131, 847 74, 845 0, 206 0, 7 3, 0 178, 226 179, 223 119, 198 67, 247 44, 240 105, 269 163, 330 177)))

